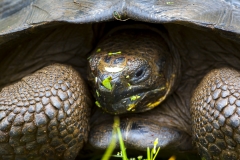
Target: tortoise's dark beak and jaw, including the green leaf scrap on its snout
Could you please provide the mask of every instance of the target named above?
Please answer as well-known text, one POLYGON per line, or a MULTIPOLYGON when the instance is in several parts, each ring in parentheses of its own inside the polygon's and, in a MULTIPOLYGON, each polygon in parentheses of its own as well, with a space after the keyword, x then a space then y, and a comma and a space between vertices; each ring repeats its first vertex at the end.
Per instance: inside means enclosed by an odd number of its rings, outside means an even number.
POLYGON ((116 76, 113 79, 109 79, 109 77, 109 75, 105 74, 95 77, 97 79, 96 92, 93 93, 98 106, 111 114, 144 112, 152 109, 146 107, 149 102, 154 102, 156 97, 162 97, 165 94, 165 87, 163 87, 163 90, 159 90, 149 89, 145 85, 128 86, 127 81, 121 76, 116 76))

